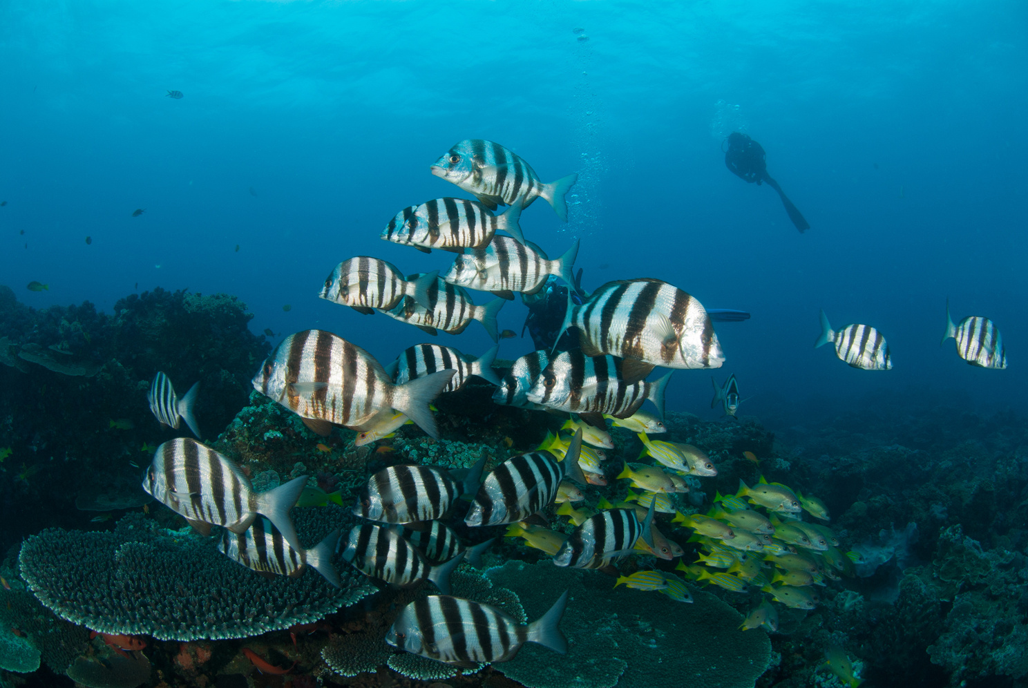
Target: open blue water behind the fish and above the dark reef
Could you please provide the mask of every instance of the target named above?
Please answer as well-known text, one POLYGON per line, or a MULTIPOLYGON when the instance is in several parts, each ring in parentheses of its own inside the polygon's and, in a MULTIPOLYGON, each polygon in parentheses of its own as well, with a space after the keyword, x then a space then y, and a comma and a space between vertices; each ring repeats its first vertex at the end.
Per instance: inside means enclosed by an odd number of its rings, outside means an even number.
MULTIPOLYGON (((568 224, 539 202, 522 227, 551 254, 581 237, 587 289, 655 277, 752 312, 718 328, 715 374, 738 375, 746 412, 790 422, 911 391, 1024 410, 1026 27, 1017 0, 6 0, 0 283, 107 312, 137 284, 231 293, 255 332, 329 329, 387 361, 426 335, 318 289, 354 255, 445 269, 446 253, 378 233, 464 195, 429 166, 485 138, 546 181, 580 173, 568 224), (764 146, 805 234, 726 170, 732 125, 764 146), (956 318, 996 322, 1007 370, 940 348, 947 296, 956 318), (894 369, 815 351, 821 307, 879 328, 894 369)), ((508 304, 501 328, 525 313, 508 304)), ((491 345, 477 325, 438 340, 491 345)), ((678 372, 668 408, 713 417, 709 392, 678 372)))

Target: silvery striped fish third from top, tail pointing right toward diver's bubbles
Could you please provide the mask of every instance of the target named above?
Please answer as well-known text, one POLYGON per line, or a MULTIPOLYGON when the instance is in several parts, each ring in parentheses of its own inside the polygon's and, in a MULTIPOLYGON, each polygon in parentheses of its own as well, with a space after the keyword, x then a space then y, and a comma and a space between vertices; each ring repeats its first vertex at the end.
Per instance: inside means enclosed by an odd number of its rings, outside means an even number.
POLYGON ((575 258, 579 241, 556 260, 540 255, 531 246, 518 244, 510 237, 493 237, 482 249, 468 249, 453 260, 453 265, 443 279, 478 291, 491 291, 506 299, 514 292, 534 294, 546 284, 550 275, 575 287, 575 258))

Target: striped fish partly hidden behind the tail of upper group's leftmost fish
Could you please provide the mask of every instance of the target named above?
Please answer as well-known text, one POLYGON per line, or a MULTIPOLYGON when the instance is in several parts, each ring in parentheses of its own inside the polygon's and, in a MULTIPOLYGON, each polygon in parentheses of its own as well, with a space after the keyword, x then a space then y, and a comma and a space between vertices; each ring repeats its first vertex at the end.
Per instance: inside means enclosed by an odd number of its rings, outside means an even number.
POLYGON ((433 336, 437 328, 449 334, 460 334, 471 321, 477 320, 493 341, 500 340, 497 314, 504 307, 504 299, 497 298, 485 305, 475 305, 467 291, 440 279, 436 279, 427 288, 426 299, 427 305, 420 305, 412 298, 405 298, 382 313, 394 320, 410 323, 433 336))

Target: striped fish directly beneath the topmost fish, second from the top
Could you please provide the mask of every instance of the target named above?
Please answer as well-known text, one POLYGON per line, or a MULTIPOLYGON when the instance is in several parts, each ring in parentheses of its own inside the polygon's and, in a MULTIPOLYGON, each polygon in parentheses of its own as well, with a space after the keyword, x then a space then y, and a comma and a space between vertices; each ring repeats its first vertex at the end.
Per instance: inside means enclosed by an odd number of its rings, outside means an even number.
POLYGON ((436 198, 401 210, 382 229, 380 238, 426 253, 432 249, 463 253, 466 248, 483 248, 498 231, 506 231, 523 244, 520 216, 520 203, 501 215, 493 215, 475 201, 436 198))

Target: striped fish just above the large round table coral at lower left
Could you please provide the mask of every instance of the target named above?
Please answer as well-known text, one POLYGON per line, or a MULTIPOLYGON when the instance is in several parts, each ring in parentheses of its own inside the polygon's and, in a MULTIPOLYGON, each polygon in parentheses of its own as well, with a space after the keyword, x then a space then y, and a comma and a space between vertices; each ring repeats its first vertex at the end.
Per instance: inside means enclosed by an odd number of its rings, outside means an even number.
POLYGON ((339 574, 330 562, 339 536, 340 532, 336 529, 310 549, 294 549, 282 533, 274 530, 271 521, 258 518, 243 533, 226 530, 218 543, 218 550, 248 569, 280 576, 300 576, 309 564, 325 580, 342 587, 339 574))

